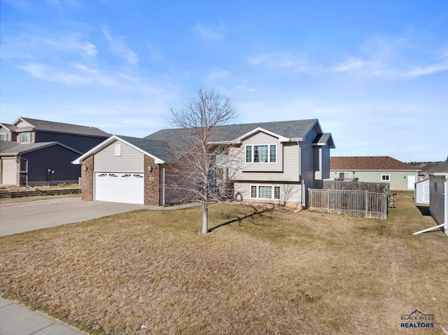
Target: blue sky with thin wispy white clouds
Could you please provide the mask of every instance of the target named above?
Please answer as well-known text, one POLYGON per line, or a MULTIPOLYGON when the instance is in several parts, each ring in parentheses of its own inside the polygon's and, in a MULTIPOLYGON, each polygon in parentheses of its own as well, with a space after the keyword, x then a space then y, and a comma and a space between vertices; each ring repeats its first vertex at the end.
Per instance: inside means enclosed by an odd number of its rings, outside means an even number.
POLYGON ((448 155, 448 1, 1 1, 0 118, 143 137, 200 85, 333 156, 448 155))

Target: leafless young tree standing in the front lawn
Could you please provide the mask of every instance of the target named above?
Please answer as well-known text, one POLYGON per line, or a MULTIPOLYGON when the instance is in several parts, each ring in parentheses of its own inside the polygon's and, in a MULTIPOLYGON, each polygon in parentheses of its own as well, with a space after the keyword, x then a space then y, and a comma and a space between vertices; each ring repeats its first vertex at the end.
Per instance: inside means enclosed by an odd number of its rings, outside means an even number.
MULTIPOLYGON (((202 234, 209 231, 209 204, 223 195, 216 192, 216 173, 228 173, 223 166, 228 163, 229 143, 216 141, 219 126, 237 116, 230 97, 214 90, 197 89, 183 108, 169 108, 170 124, 180 128, 173 140, 174 150, 181 157, 176 164, 177 178, 172 187, 183 194, 184 201, 202 204, 202 234)), ((225 180, 227 178, 223 178, 225 180)))

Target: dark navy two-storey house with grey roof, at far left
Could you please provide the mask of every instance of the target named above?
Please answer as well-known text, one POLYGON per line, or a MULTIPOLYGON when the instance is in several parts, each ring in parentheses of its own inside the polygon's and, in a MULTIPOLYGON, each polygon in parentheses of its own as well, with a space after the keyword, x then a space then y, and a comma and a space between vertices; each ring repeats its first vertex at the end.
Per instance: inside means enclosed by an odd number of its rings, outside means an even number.
POLYGON ((71 161, 76 158, 73 155, 83 154, 109 136, 94 127, 28 117, 19 117, 13 124, 0 123, 0 183, 47 185, 51 177, 53 183, 55 180, 77 183, 80 167, 71 166, 71 161), (27 162, 26 170, 21 159, 27 162), (13 164, 13 161, 18 163, 13 164), (55 171, 50 172, 52 176, 48 175, 49 169, 55 171))

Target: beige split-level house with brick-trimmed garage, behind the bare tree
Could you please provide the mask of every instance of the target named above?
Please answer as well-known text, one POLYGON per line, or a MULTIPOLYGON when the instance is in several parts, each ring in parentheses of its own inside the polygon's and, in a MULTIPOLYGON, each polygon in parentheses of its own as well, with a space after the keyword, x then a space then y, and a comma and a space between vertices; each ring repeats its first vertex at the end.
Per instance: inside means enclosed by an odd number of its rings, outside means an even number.
MULTIPOLYGON (((76 159, 82 164, 83 199, 160 206, 176 202, 167 194, 167 173, 176 157, 183 129, 163 129, 146 138, 111 136, 76 159)), ((318 120, 232 124, 214 127, 216 145, 230 144, 226 154, 239 164, 220 166, 231 176, 239 199, 290 206, 306 205, 308 187, 321 188, 330 176, 332 136, 318 120)), ((222 157, 221 157, 222 158, 222 157)))

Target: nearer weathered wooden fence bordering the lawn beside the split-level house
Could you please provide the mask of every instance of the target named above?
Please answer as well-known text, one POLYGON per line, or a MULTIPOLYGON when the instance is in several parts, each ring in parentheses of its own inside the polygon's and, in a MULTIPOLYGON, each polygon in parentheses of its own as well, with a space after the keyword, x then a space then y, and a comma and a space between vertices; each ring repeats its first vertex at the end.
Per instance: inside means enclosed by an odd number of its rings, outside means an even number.
POLYGON ((308 205, 309 209, 328 213, 373 219, 387 218, 386 192, 308 189, 308 205))

